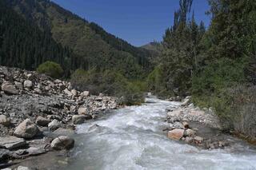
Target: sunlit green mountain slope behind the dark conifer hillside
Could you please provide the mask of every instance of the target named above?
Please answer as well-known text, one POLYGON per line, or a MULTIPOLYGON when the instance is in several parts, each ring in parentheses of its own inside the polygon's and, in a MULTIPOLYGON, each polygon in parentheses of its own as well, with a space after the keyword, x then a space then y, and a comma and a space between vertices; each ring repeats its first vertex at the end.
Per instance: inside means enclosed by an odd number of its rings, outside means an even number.
MULTIPOLYGON (((3 1, 3 0, 2 0, 3 1)), ((150 50, 137 48, 107 33, 94 22, 63 9, 49 0, 4 0, 10 8, 42 32, 51 34, 62 47, 72 49, 74 68, 117 69, 135 78, 150 69, 150 50)))

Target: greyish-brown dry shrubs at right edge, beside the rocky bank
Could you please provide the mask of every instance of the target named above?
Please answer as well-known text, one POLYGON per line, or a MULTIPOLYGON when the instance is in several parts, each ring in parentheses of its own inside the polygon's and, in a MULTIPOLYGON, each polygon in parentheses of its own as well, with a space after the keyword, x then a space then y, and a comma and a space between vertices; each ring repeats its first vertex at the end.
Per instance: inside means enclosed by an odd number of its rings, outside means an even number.
POLYGON ((224 130, 256 139, 256 86, 234 85, 218 95, 193 96, 201 107, 213 106, 224 130))

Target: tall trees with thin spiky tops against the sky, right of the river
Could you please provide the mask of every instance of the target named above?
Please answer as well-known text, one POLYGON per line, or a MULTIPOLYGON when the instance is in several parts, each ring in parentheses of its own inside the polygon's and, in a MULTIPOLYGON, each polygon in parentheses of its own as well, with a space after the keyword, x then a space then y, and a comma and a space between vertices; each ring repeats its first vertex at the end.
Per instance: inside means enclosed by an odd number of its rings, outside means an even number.
MULTIPOLYGON (((203 23, 198 26, 194 14, 188 19, 192 2, 180 1, 180 9, 174 13, 174 25, 166 30, 163 38, 161 72, 153 72, 162 80, 157 80, 156 84, 151 82, 154 87, 150 87, 157 89, 158 94, 186 96, 191 88, 192 75, 198 69, 198 44, 205 33, 203 23)), ((154 79, 152 75, 150 77, 154 79)))

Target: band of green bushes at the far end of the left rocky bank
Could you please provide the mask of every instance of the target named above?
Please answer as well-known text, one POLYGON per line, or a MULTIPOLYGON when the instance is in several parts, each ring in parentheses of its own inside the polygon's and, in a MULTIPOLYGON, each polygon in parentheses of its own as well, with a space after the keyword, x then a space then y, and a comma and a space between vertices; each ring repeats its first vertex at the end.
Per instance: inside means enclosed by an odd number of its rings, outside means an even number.
POLYGON ((137 105, 144 101, 143 83, 130 82, 121 73, 113 70, 98 72, 96 69, 77 69, 71 76, 71 83, 81 91, 89 90, 92 94, 105 93, 120 97, 120 103, 124 105, 137 105))

